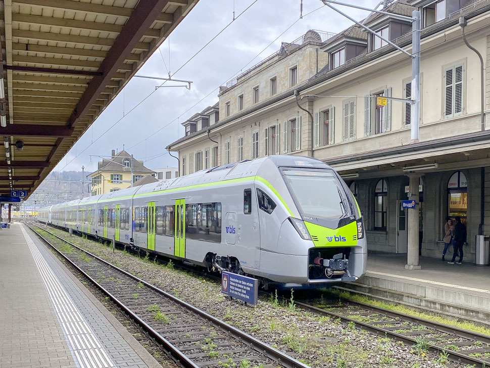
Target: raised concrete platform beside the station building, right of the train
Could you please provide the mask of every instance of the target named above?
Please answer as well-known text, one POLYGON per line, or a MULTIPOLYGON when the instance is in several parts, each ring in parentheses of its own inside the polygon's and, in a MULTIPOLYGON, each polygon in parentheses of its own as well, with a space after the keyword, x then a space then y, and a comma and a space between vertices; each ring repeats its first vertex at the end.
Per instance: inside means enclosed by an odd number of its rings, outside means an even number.
MULTIPOLYGON (((451 260, 451 255, 446 258, 451 260)), ((381 300, 488 324, 490 267, 420 257, 422 269, 407 270, 406 261, 406 254, 370 252, 366 275, 345 287, 381 300)))

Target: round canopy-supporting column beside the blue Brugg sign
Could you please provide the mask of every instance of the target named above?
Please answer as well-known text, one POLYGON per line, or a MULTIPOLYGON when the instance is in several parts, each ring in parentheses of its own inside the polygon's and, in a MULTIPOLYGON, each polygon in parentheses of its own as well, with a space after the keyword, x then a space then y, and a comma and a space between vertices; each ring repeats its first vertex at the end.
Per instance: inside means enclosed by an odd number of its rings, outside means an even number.
POLYGON ((410 178, 409 200, 415 201, 414 208, 407 211, 408 217, 408 247, 407 247, 407 264, 405 269, 421 269, 419 264, 419 181, 422 174, 407 174, 410 178))

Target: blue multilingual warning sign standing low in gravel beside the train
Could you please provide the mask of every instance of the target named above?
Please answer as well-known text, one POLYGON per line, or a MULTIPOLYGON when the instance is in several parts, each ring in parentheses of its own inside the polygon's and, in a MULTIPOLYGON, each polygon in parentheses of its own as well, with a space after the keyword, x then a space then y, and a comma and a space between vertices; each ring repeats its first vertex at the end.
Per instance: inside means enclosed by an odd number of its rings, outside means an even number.
POLYGON ((223 271, 221 292, 249 304, 257 304, 259 280, 241 274, 223 271))

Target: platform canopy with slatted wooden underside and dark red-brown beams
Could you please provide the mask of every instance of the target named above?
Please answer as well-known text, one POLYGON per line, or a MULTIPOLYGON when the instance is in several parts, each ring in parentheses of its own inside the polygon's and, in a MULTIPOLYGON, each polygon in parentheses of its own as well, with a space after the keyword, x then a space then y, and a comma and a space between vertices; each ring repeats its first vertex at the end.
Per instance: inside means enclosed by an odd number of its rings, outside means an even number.
POLYGON ((0 2, 0 196, 31 194, 198 1, 0 2))

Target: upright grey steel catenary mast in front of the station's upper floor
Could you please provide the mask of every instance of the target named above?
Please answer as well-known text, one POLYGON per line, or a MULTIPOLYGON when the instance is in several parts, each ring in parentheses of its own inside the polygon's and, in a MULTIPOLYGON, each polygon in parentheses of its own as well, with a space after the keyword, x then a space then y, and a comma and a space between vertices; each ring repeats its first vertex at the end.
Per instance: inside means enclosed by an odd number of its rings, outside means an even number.
MULTIPOLYGON (((422 26, 420 11, 412 13, 412 97, 410 106, 410 135, 412 143, 419 142, 420 122, 420 29, 422 26)), ((417 187, 418 188, 418 187, 417 187)), ((418 190, 417 190, 418 193, 418 190)))

